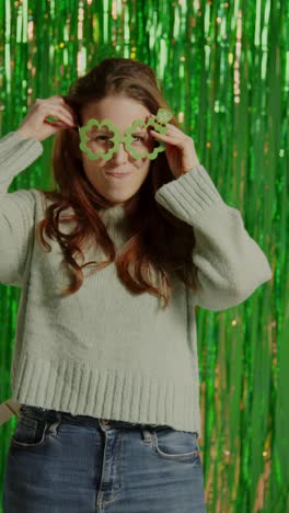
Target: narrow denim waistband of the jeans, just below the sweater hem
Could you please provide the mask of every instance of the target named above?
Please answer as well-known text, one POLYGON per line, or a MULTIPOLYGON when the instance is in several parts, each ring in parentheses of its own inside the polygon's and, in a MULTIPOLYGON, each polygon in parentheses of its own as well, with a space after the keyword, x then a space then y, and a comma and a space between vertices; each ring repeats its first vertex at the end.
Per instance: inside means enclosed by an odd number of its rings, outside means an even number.
MULTIPOLYGON (((30 404, 21 404, 20 407, 20 417, 21 414, 28 414, 30 417, 43 420, 47 422, 55 422, 56 420, 60 420, 63 423, 72 423, 72 424, 81 424, 85 426, 99 426, 97 418, 91 415, 72 415, 72 413, 65 412, 65 411, 57 411, 57 410, 47 410, 45 408, 30 406, 30 404)), ((99 418, 99 420, 104 420, 99 418)), ((109 419, 108 419, 109 420, 109 419)), ((147 423, 138 423, 138 422, 127 422, 127 421, 119 421, 119 420, 109 420, 111 428, 134 428, 134 426, 151 426, 153 429, 164 429, 170 428, 166 424, 147 424, 147 423)))

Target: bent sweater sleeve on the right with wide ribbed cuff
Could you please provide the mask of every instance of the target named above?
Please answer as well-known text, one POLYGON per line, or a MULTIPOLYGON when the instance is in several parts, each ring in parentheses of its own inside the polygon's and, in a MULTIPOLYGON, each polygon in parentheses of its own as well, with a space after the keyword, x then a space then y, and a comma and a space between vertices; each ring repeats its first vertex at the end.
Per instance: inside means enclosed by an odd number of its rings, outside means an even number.
POLYGON ((243 303, 273 277, 266 255, 227 205, 201 164, 162 185, 155 201, 194 228, 194 304, 212 311, 243 303))

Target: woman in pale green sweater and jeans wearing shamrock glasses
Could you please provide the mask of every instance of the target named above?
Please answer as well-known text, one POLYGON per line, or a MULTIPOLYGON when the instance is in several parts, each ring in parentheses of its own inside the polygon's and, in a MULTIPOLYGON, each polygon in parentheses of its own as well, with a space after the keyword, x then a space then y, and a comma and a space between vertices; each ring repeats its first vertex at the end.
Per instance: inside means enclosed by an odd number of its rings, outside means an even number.
POLYGON ((206 511, 195 307, 271 270, 161 110, 147 65, 108 58, 0 141, 0 281, 22 288, 4 513, 206 511), (54 134, 54 191, 8 193, 54 134))

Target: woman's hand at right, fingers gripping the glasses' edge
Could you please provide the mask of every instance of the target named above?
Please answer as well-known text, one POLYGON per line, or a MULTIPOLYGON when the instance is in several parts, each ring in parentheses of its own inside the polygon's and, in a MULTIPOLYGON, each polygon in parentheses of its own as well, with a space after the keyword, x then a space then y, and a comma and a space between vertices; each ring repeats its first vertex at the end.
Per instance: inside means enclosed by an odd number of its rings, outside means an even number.
POLYGON ((165 142, 165 155, 169 166, 174 176, 178 179, 182 174, 192 171, 194 166, 199 164, 199 160, 192 137, 184 134, 176 126, 171 125, 171 123, 166 123, 166 126, 167 132, 165 135, 153 129, 150 129, 150 133, 157 140, 165 142))

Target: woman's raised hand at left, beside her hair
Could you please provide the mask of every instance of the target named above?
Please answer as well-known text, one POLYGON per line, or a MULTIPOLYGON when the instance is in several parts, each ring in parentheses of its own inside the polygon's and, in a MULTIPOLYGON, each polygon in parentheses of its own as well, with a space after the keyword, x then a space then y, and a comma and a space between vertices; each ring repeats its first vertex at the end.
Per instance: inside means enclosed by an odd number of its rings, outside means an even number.
POLYGON ((72 107, 66 103, 60 94, 56 94, 44 100, 37 98, 16 132, 20 132, 26 139, 33 137, 42 141, 58 130, 76 126, 76 115, 72 107), (56 117, 59 121, 50 122, 46 119, 47 116, 56 117))

